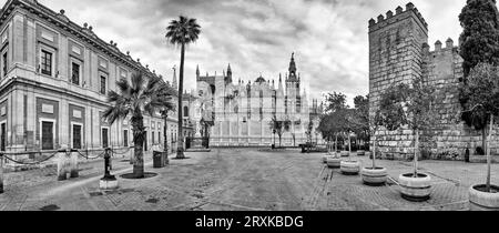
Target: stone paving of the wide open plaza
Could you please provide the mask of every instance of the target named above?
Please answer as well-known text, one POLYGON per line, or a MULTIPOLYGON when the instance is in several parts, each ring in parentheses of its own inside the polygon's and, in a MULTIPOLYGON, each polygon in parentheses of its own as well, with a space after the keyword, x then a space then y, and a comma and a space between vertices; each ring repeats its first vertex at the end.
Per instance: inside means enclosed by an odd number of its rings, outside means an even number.
MULTIPOLYGON (((186 153, 163 169, 145 170, 157 176, 145 180, 119 178, 120 189, 99 190, 102 161, 81 166, 80 178, 57 181, 55 169, 7 173, 2 211, 466 211, 468 189, 485 181, 486 164, 421 161, 431 175, 431 199, 414 203, 400 197, 398 186, 363 185, 360 176, 345 176, 322 163, 320 153, 298 150, 268 152, 257 149, 221 149, 186 153)), ((370 165, 368 158, 356 158, 370 165)), ((378 161, 390 178, 411 171, 411 162, 378 161)), ((113 161, 113 174, 130 173, 123 159, 113 161)), ((499 165, 492 165, 499 183, 499 165)))

